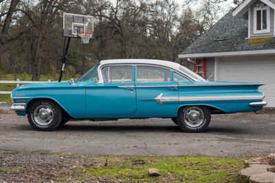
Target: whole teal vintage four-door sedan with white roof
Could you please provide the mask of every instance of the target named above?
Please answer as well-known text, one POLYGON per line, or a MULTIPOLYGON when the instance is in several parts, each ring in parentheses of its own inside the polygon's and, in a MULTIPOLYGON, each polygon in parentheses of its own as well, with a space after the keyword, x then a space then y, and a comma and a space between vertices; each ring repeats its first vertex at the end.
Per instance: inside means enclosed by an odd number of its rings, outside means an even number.
POLYGON ((43 131, 70 120, 170 118, 184 132, 203 132, 211 114, 261 110, 261 85, 208 82, 175 62, 103 60, 76 81, 15 88, 11 109, 43 131))

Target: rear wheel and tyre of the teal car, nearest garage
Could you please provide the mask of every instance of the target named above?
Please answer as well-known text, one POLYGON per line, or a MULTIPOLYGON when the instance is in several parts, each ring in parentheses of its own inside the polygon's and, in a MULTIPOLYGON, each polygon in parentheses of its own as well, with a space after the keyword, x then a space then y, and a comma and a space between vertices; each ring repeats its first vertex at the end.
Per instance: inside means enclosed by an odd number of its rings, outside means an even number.
POLYGON ((177 121, 184 132, 204 132, 211 121, 210 110, 201 106, 187 106, 179 110, 177 121))

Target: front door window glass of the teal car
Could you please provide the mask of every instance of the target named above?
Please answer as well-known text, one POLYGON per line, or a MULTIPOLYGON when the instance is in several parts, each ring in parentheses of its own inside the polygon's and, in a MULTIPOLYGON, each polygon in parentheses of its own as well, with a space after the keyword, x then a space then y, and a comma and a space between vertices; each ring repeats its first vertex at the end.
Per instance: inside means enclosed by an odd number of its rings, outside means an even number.
POLYGON ((131 65, 110 65, 102 69, 104 83, 131 83, 133 82, 133 69, 131 65))

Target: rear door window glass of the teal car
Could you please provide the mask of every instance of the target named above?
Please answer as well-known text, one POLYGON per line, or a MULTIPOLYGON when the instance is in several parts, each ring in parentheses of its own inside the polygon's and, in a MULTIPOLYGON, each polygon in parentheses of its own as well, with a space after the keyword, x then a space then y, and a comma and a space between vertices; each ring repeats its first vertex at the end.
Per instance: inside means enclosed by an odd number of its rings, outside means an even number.
POLYGON ((159 66, 137 65, 137 82, 170 82, 171 72, 159 66))

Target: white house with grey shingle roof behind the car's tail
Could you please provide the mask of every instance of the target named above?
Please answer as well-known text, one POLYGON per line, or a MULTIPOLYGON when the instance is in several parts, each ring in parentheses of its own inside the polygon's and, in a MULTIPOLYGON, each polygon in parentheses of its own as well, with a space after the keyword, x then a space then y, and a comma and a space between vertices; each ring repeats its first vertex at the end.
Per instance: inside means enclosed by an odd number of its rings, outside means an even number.
POLYGON ((275 107, 275 0, 245 0, 179 58, 205 60, 208 80, 260 82, 275 107))

